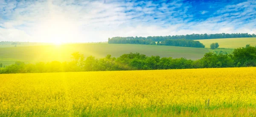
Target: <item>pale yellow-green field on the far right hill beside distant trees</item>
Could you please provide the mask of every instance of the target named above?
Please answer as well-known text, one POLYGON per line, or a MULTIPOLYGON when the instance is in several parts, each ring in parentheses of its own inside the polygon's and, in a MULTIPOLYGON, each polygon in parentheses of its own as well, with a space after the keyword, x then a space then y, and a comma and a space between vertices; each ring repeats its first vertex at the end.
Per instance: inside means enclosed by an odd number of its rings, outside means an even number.
POLYGON ((208 40, 198 40, 205 45, 206 48, 210 47, 211 43, 218 43, 219 48, 236 49, 240 47, 245 47, 247 44, 251 46, 256 46, 256 38, 225 38, 225 39, 208 39, 208 40))

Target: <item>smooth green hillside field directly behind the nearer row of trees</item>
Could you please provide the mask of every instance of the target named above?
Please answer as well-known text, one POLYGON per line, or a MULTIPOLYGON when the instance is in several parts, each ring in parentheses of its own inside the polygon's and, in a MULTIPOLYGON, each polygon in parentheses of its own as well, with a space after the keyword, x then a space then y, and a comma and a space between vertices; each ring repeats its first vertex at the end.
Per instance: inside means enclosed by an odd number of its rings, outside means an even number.
POLYGON ((17 60, 25 62, 70 61, 71 54, 76 51, 84 54, 85 57, 92 55, 97 58, 106 57, 107 54, 111 54, 113 57, 119 57, 122 54, 138 52, 147 56, 185 57, 192 60, 200 59, 205 53, 209 52, 205 48, 107 43, 69 44, 61 46, 17 46, 0 48, 0 63, 9 65, 17 60))

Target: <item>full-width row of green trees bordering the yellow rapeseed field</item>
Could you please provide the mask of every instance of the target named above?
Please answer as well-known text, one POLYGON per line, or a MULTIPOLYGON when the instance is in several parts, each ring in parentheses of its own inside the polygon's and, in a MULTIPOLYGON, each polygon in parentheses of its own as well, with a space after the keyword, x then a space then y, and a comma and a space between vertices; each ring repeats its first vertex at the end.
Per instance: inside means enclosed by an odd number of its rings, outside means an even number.
POLYGON ((233 54, 207 53, 200 60, 187 60, 186 58, 173 59, 172 57, 151 56, 130 53, 120 57, 86 59, 79 52, 72 54, 73 61, 49 63, 16 62, 13 65, 0 68, 0 73, 42 73, 67 71, 116 71, 116 70, 152 70, 152 69, 183 69, 183 68, 224 68, 256 66, 256 47, 247 45, 245 48, 235 49, 233 54))

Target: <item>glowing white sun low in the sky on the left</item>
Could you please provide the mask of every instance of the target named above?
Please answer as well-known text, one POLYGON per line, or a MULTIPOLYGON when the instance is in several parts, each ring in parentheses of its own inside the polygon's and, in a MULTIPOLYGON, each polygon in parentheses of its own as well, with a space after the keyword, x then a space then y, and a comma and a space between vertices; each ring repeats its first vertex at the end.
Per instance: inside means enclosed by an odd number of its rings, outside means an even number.
POLYGON ((62 45, 81 37, 77 23, 62 16, 48 17, 38 24, 35 26, 34 35, 40 41, 62 45))

